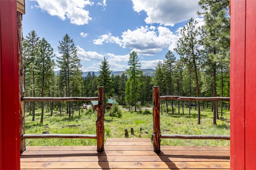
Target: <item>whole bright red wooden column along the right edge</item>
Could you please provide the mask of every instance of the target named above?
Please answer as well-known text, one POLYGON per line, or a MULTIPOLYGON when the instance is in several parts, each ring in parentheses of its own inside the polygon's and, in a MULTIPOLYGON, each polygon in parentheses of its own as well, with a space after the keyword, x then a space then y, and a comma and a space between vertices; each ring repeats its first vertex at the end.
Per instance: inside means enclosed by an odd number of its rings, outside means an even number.
POLYGON ((230 151, 231 170, 255 169, 256 1, 231 1, 230 151))

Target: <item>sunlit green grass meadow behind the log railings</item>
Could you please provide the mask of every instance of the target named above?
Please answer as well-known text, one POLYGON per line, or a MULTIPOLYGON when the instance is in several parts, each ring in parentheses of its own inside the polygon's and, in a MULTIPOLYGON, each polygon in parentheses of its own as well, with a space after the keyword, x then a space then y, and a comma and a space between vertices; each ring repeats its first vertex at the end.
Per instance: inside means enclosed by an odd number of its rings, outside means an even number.
MULTIPOLYGON (((176 107, 175 111, 178 111, 176 107)), ((84 110, 81 115, 74 112, 73 117, 66 114, 55 113, 50 116, 44 113, 44 123, 40 124, 40 110, 36 110, 35 121, 32 115, 26 113, 25 132, 42 133, 74 133, 74 134, 96 134, 96 112, 86 114, 84 110), (75 126, 68 126, 75 125, 75 126)), ((150 110, 152 113, 152 110, 150 110)), ((184 115, 175 113, 160 115, 160 130, 162 134, 191 134, 191 135, 229 135, 230 134, 230 112, 224 110, 223 119, 217 120, 217 125, 212 125, 212 112, 210 109, 201 110, 201 125, 197 125, 197 111, 184 108, 184 115)), ((161 114, 161 113, 160 113, 161 114)), ((220 113, 219 113, 220 114, 220 113)), ((108 114, 106 114, 108 115, 108 114)), ((122 117, 108 117, 105 115, 104 128, 105 140, 107 138, 125 138, 124 129, 128 129, 129 138, 149 138, 153 132, 152 114, 143 115, 137 112, 129 112, 122 108, 122 117), (133 127, 134 135, 130 128, 133 127), (140 131, 142 129, 142 131, 140 131)), ((96 139, 26 139, 26 146, 79 146, 96 145, 96 139)), ((187 139, 161 139, 161 145, 200 145, 200 146, 229 146, 229 140, 187 140, 187 139)))

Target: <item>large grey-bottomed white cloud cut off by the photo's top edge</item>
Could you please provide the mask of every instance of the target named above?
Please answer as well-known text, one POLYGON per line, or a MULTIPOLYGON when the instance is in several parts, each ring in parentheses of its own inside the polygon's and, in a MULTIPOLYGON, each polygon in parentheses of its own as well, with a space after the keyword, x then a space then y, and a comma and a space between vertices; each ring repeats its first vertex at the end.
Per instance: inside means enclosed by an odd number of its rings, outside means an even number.
POLYGON ((173 26, 175 23, 196 18, 199 0, 132 0, 136 12, 148 15, 145 22, 173 26))

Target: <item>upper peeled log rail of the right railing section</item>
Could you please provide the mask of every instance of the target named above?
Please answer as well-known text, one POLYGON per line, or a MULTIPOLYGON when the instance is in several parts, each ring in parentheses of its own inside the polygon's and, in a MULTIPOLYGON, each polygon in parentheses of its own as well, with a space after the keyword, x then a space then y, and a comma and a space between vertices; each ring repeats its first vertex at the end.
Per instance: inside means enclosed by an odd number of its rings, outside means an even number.
POLYGON ((229 101, 230 97, 184 97, 184 96, 160 96, 159 100, 194 100, 194 101, 213 101, 213 100, 225 100, 229 101))

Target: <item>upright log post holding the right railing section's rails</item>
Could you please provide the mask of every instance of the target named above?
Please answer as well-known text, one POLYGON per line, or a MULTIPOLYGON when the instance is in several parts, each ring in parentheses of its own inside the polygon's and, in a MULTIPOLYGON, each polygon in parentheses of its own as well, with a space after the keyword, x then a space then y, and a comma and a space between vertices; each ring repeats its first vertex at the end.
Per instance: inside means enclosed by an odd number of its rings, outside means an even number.
POLYGON ((160 152, 160 104, 159 87, 153 87, 153 150, 160 152))

